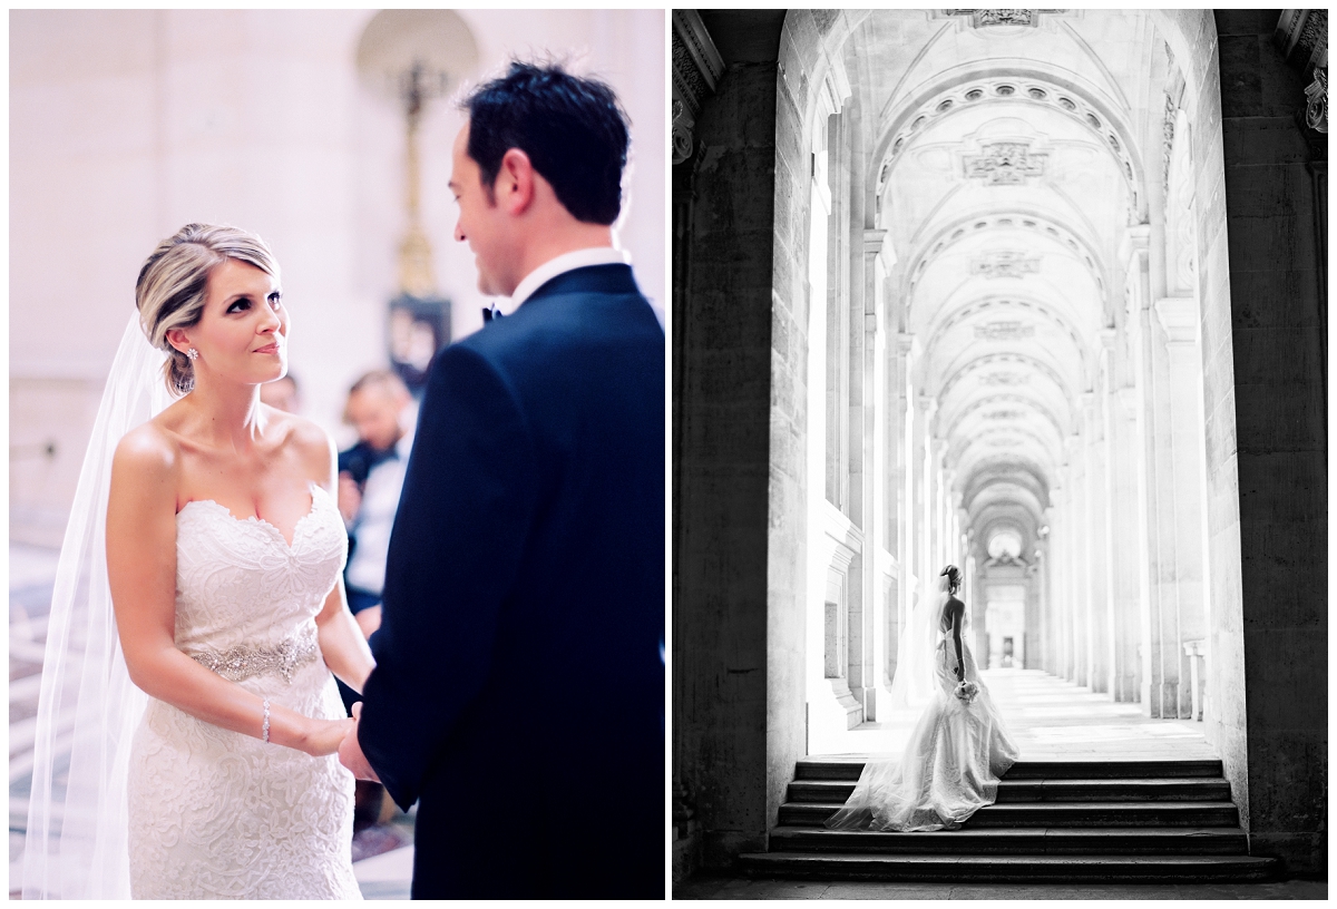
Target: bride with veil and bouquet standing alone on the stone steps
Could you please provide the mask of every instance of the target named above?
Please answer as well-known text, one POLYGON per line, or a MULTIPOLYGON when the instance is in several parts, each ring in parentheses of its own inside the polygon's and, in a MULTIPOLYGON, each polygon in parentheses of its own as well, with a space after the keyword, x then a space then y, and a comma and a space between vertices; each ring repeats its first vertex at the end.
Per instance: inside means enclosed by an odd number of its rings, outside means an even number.
POLYGON ((939 608, 916 610, 924 615, 912 618, 892 691, 893 699, 897 694, 915 699, 915 682, 928 680, 927 690, 920 692, 928 700, 924 712, 901 757, 864 765, 858 785, 845 806, 826 821, 828 827, 955 830, 975 811, 993 803, 999 777, 1016 762, 1017 747, 1003 727, 961 636, 965 604, 955 596, 961 587, 961 572, 948 565, 940 577, 939 608), (929 652, 931 667, 923 659, 929 652))

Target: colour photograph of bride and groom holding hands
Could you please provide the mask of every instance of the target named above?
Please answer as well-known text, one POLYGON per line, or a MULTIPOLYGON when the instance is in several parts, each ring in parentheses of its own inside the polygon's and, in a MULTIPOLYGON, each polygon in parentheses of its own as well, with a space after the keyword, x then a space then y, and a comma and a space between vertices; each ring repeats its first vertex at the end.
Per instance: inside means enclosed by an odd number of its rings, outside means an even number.
POLYGON ((667 12, 8 16, 11 898, 664 898, 667 12))

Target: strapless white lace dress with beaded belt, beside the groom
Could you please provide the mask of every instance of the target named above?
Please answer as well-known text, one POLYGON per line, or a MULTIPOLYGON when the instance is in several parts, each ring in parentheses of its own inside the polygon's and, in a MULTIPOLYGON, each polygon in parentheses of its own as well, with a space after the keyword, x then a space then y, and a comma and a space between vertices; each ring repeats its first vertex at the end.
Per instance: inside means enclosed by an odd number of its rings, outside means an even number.
MULTIPOLYGON (((306 717, 345 717, 316 615, 348 537, 312 485, 291 544, 274 525, 191 501, 176 515, 176 647, 306 717)), ((130 758, 135 898, 360 900, 353 775, 336 755, 233 733, 150 699, 130 758)))

